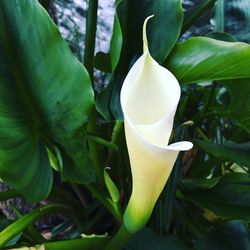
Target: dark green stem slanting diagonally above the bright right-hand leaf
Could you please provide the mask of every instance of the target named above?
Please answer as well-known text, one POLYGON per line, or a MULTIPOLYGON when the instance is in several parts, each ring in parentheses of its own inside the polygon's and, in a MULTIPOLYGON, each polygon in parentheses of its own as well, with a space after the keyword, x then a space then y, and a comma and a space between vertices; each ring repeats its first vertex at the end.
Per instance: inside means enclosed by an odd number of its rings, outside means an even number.
MULTIPOLYGON (((203 0, 197 8, 192 12, 192 15, 184 20, 181 34, 184 34, 197 19, 202 16, 209 8, 211 8, 217 0, 203 0)), ((224 0, 223 0, 224 1, 224 0)))

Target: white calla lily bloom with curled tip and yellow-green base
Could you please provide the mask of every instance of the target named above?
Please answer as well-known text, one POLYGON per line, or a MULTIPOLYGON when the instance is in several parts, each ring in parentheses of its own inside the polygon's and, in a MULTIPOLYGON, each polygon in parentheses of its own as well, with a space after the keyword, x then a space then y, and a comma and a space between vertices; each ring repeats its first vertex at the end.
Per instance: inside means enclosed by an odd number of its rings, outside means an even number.
POLYGON ((168 145, 180 86, 173 74, 150 55, 143 28, 144 53, 129 71, 121 90, 126 142, 132 171, 132 194, 124 225, 134 233, 148 221, 179 151, 190 142, 168 145))

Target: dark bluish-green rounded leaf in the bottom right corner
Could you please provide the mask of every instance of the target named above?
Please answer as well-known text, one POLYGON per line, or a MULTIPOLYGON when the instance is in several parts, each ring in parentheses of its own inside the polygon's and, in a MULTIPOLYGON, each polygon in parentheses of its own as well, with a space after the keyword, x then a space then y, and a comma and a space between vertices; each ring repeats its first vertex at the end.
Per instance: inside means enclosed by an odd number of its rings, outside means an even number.
POLYGON ((197 250, 246 250, 250 249, 250 234, 246 225, 229 221, 205 234, 195 244, 197 250))

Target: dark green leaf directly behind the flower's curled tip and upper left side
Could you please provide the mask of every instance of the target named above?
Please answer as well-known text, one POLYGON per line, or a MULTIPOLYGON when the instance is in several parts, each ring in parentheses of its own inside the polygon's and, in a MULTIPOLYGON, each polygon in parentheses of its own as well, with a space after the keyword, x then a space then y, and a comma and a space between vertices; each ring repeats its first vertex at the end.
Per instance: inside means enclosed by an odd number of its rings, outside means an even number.
POLYGON ((162 62, 180 34, 183 19, 181 0, 123 0, 117 6, 123 36, 121 56, 109 86, 97 99, 97 109, 107 120, 113 117, 122 119, 120 89, 129 68, 142 53, 143 22, 152 14, 154 18, 147 27, 149 50, 154 59, 162 62))

